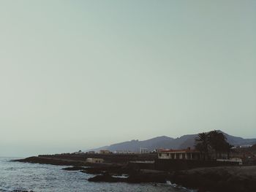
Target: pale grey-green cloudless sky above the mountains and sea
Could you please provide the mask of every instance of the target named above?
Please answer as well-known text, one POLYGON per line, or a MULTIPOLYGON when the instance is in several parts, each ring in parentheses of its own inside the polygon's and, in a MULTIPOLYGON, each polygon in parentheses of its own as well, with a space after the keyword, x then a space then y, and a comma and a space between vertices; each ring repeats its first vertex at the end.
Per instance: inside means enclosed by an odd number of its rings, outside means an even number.
POLYGON ((0 29, 0 156, 256 138, 256 1, 2 0, 0 29))

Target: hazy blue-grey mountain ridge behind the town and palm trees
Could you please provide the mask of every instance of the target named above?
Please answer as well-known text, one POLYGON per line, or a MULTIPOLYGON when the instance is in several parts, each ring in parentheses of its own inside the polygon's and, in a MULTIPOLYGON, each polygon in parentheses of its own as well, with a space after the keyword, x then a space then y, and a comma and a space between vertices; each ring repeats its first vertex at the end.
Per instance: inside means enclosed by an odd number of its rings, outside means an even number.
MULTIPOLYGON (((220 132, 225 134, 225 137, 227 137, 227 142, 229 142, 231 145, 238 146, 238 145, 256 144, 256 139, 243 139, 242 137, 235 137, 235 136, 226 134, 223 131, 220 131, 220 132)), ((144 141, 132 140, 128 142, 120 142, 120 143, 116 143, 116 144, 105 146, 105 147, 99 147, 92 150, 95 150, 95 151, 129 150, 132 152, 138 152, 140 150, 140 147, 147 148, 149 151, 160 149, 160 148, 162 149, 185 149, 187 147, 193 148, 195 143, 195 137, 197 137, 197 134, 187 134, 187 135, 178 137, 176 139, 173 139, 172 137, 166 137, 166 136, 154 137, 152 139, 147 139, 144 141)))

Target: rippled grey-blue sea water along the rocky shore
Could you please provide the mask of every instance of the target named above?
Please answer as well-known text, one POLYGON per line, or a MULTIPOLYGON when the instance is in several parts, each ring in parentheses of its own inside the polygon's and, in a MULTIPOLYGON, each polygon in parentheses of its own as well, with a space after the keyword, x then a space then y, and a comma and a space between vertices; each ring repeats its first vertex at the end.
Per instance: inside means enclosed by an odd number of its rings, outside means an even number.
POLYGON ((91 183, 92 174, 65 171, 63 167, 47 164, 12 162, 14 158, 0 158, 0 191, 171 191, 188 192, 170 183, 91 183))

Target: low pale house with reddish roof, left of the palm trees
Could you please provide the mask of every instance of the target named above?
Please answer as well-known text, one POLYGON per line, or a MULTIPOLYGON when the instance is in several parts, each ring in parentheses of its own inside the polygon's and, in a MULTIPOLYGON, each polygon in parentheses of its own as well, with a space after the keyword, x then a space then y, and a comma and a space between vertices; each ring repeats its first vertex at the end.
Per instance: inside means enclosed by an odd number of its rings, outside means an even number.
POLYGON ((161 159, 200 159, 200 152, 197 150, 160 150, 158 158, 161 159))

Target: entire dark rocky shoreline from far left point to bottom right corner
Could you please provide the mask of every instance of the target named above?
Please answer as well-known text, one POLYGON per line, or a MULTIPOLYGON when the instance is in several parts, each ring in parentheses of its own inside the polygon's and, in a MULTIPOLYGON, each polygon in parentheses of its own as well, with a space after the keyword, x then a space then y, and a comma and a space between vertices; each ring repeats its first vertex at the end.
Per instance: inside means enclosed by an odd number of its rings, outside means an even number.
POLYGON ((89 182, 166 183, 170 181, 200 192, 256 191, 256 166, 217 166, 164 172, 135 169, 129 164, 88 164, 86 161, 56 158, 31 157, 15 161, 69 166, 64 170, 94 174, 89 178, 89 182), (124 174, 127 177, 120 177, 124 174))

